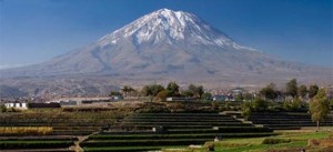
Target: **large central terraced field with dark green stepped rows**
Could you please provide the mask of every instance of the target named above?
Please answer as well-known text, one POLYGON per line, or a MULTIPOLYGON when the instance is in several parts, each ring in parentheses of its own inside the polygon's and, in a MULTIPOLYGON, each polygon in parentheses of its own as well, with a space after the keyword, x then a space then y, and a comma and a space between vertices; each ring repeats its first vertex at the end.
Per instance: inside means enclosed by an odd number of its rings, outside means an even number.
POLYGON ((203 144, 220 139, 275 135, 218 113, 141 113, 127 116, 109 131, 80 143, 84 151, 148 151, 168 146, 203 144))

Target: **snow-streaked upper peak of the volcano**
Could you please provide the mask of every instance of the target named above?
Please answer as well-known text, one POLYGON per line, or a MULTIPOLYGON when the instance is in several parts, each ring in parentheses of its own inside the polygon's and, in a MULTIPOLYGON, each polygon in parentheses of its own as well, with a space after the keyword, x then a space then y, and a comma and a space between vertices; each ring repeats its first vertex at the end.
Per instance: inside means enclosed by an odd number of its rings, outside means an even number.
POLYGON ((117 44, 121 39, 129 39, 135 44, 167 42, 249 49, 235 43, 194 14, 169 9, 160 9, 137 19, 100 39, 99 44, 117 44))

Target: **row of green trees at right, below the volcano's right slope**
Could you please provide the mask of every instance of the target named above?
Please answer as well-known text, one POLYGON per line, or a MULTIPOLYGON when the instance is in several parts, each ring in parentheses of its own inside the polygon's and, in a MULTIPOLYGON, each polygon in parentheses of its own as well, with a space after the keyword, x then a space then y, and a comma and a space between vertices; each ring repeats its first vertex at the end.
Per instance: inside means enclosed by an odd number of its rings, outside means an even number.
POLYGON ((262 88, 259 91, 259 97, 254 98, 252 102, 245 101, 242 104, 243 115, 246 118, 253 111, 268 111, 270 101, 281 101, 281 99, 285 110, 296 110, 302 107, 309 110, 312 120, 317 123, 317 128, 333 105, 333 94, 330 90, 320 89, 316 84, 297 85, 296 79, 292 79, 285 83, 284 91, 278 90, 274 83, 262 88))

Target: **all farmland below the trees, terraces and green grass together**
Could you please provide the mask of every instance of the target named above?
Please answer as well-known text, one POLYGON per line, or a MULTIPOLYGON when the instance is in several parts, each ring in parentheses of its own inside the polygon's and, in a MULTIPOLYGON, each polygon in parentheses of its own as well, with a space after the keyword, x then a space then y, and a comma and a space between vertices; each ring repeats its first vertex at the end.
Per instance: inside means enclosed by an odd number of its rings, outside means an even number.
POLYGON ((332 131, 332 119, 322 123, 327 125, 323 131, 314 132, 309 113, 258 112, 246 121, 239 111, 220 112, 225 104, 239 107, 236 102, 219 103, 214 110, 209 102, 140 102, 7 112, 0 114, 0 149, 125 152, 188 151, 189 145, 200 145, 192 150, 206 151, 213 144, 215 151, 231 152, 299 150, 307 145, 307 139, 329 138, 332 131), (278 143, 263 144, 264 140, 278 143))

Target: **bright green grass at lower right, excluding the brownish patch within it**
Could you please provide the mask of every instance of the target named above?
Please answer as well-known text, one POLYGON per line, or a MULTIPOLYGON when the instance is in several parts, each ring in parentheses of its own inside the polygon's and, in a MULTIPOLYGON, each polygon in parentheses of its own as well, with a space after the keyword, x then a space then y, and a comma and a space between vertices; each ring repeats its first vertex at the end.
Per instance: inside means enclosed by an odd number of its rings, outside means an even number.
MULTIPOLYGON (((301 151, 303 148, 306 149, 306 152, 321 151, 327 148, 307 146, 307 140, 326 139, 332 134, 332 129, 333 128, 320 132, 315 132, 314 130, 279 131, 279 135, 274 136, 285 140, 290 139, 290 143, 262 144, 266 138, 226 139, 219 142, 206 142, 205 146, 201 149, 190 150, 189 148, 183 148, 176 152, 206 152, 205 148, 210 144, 214 144, 215 152, 289 152, 301 151)), ((165 150, 165 152, 169 151, 165 150)))

